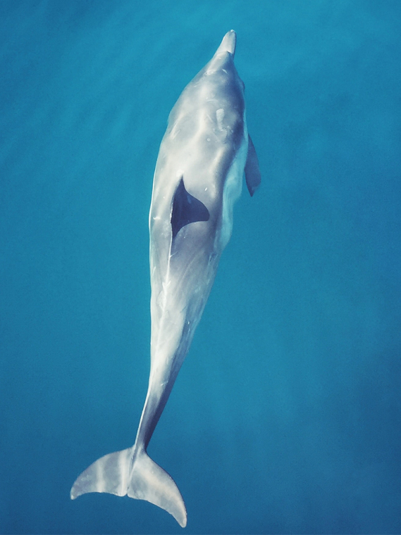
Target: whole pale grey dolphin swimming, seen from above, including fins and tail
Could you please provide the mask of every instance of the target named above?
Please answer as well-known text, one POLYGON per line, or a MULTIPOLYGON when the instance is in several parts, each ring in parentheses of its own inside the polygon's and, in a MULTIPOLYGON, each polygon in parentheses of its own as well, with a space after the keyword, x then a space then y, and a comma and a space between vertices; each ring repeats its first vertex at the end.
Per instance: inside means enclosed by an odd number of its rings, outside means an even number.
POLYGON ((71 498, 88 492, 147 500, 187 524, 183 498, 147 446, 190 348, 230 239, 242 177, 260 183, 247 132, 244 84, 234 65, 235 32, 185 87, 168 118, 154 172, 149 214, 152 286, 149 387, 135 444, 82 472, 71 498))

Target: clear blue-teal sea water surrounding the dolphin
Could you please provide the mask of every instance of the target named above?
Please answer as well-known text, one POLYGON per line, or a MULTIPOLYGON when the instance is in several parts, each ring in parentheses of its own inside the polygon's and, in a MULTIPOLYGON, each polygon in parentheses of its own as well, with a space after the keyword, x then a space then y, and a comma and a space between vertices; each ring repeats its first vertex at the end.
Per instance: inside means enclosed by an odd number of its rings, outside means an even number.
POLYGON ((1 0, 2 534, 401 532, 401 4, 1 0), (237 32, 262 185, 149 447, 183 531, 75 477, 135 439, 168 113, 237 32))

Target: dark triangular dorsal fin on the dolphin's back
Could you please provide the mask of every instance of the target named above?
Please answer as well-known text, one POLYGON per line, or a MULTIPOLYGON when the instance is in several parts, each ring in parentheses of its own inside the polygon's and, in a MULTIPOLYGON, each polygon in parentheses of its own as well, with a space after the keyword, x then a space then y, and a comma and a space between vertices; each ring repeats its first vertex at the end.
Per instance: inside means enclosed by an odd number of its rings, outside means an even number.
POLYGON ((202 201, 187 192, 183 177, 175 189, 173 208, 171 210, 171 228, 173 239, 180 229, 197 221, 209 221, 209 210, 202 201))

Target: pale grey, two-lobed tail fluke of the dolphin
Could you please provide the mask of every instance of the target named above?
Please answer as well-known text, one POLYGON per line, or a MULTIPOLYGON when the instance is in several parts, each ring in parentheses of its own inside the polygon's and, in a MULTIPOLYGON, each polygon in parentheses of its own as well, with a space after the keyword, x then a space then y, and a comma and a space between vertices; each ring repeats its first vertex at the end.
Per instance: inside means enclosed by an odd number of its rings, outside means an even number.
POLYGON ((187 525, 187 510, 173 478, 146 451, 133 448, 104 455, 88 467, 71 489, 71 499, 88 492, 109 492, 146 500, 169 512, 181 527, 187 525))

